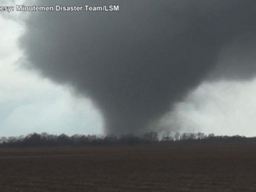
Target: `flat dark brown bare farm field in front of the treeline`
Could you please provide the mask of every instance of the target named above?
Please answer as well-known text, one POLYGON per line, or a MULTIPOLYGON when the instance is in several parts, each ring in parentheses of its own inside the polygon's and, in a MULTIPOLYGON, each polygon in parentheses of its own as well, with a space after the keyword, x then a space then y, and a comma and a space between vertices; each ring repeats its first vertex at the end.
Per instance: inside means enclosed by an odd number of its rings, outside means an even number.
POLYGON ((0 191, 256 191, 256 145, 0 149, 0 191))

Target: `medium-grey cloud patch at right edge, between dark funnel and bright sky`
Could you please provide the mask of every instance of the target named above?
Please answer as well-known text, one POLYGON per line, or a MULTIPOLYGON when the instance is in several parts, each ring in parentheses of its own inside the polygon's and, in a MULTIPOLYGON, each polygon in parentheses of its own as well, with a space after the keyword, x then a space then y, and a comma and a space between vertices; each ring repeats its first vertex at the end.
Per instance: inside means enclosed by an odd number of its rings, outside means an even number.
POLYGON ((247 31, 223 47, 215 69, 209 74, 209 80, 248 80, 255 77, 255 71, 256 35, 255 32, 247 31))

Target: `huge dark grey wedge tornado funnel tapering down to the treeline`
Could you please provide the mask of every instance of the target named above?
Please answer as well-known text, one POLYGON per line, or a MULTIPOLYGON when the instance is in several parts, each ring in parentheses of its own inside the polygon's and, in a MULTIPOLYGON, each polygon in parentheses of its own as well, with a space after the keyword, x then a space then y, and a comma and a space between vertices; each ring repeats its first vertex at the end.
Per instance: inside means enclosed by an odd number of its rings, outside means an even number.
POLYGON ((93 99, 106 133, 146 131, 199 85, 225 45, 255 34, 250 0, 74 2, 54 1, 120 11, 32 13, 21 45, 30 67, 93 99))

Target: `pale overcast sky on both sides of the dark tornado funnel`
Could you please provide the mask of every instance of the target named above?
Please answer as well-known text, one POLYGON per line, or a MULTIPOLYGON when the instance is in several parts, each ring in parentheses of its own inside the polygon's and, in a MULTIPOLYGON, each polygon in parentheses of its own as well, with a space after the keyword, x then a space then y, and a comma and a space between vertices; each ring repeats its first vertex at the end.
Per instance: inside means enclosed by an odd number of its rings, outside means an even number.
MULTIPOLYGON (((21 67, 25 55, 22 47, 18 46, 18 39, 25 33, 25 23, 20 16, 0 15, 0 135, 103 133, 104 115, 90 97, 71 91, 72 84, 55 83, 54 78, 50 78, 52 81, 21 67)), ((192 87, 182 101, 175 102, 172 111, 163 114, 159 129, 255 136, 256 80, 254 73, 249 73, 255 66, 255 47, 248 43, 253 41, 253 37, 239 37, 223 46, 217 57, 217 67, 209 73, 209 78, 192 87), (237 53, 239 59, 233 59, 233 53, 237 53), (241 68, 241 76, 249 78, 222 78, 223 74, 233 77, 234 74, 229 72, 235 67, 241 68), (214 81, 211 80, 212 74, 214 81), (219 80, 216 81, 216 77, 219 80)))

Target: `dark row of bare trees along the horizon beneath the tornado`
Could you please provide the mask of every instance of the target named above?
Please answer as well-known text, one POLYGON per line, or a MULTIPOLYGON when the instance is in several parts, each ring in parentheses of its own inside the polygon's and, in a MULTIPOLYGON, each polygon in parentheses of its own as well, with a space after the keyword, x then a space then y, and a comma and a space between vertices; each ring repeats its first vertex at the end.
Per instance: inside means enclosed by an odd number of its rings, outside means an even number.
POLYGON ((48 133, 31 133, 26 136, 1 137, 0 147, 47 147, 47 146, 84 146, 84 145, 135 145, 149 143, 186 143, 186 142, 220 142, 220 141, 255 141, 256 137, 215 136, 213 133, 179 133, 166 132, 159 136, 157 132, 136 135, 51 135, 48 133))

